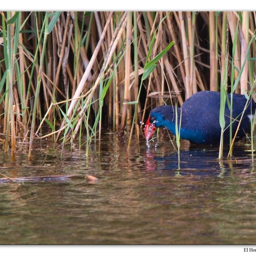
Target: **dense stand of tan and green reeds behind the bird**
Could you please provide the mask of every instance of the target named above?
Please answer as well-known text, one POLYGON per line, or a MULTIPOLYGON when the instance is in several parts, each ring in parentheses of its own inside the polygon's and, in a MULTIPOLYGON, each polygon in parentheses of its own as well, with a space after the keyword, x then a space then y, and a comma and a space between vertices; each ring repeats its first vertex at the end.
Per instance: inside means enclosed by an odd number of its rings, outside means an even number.
POLYGON ((157 105, 201 90, 221 90, 223 104, 226 92, 254 97, 255 29, 245 11, 1 12, 3 150, 19 142, 30 158, 45 137, 88 148, 102 128, 127 133, 129 148, 157 105))

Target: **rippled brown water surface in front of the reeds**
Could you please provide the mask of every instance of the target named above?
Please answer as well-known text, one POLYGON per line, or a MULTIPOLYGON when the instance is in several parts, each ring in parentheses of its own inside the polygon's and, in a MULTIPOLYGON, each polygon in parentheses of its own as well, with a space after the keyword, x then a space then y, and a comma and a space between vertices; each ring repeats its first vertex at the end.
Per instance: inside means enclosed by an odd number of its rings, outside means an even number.
MULTIPOLYGON (((255 244, 256 168, 236 144, 233 162, 216 148, 183 143, 180 170, 169 141, 147 148, 105 134, 88 161, 78 145, 45 143, 27 161, 0 152, 9 177, 76 175, 61 180, 0 183, 0 244, 255 244), (51 149, 50 149, 51 148, 51 149), (94 175, 99 180, 88 182, 94 175)), ((226 153, 227 154, 227 153, 226 153)))

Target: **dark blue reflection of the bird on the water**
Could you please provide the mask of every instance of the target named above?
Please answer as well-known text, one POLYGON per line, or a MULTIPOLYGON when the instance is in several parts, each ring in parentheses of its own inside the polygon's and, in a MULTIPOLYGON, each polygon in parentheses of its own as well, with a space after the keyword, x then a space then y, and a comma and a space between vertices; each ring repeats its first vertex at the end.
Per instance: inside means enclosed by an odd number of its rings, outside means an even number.
MULTIPOLYGON (((176 152, 161 155, 149 148, 146 152, 145 165, 146 170, 159 171, 162 175, 223 176, 234 168, 252 168, 251 155, 243 148, 234 149, 231 160, 219 161, 218 153, 217 149, 189 148, 180 152, 180 162, 178 162, 176 152)), ((223 155, 227 154, 228 151, 224 151, 223 155)))

